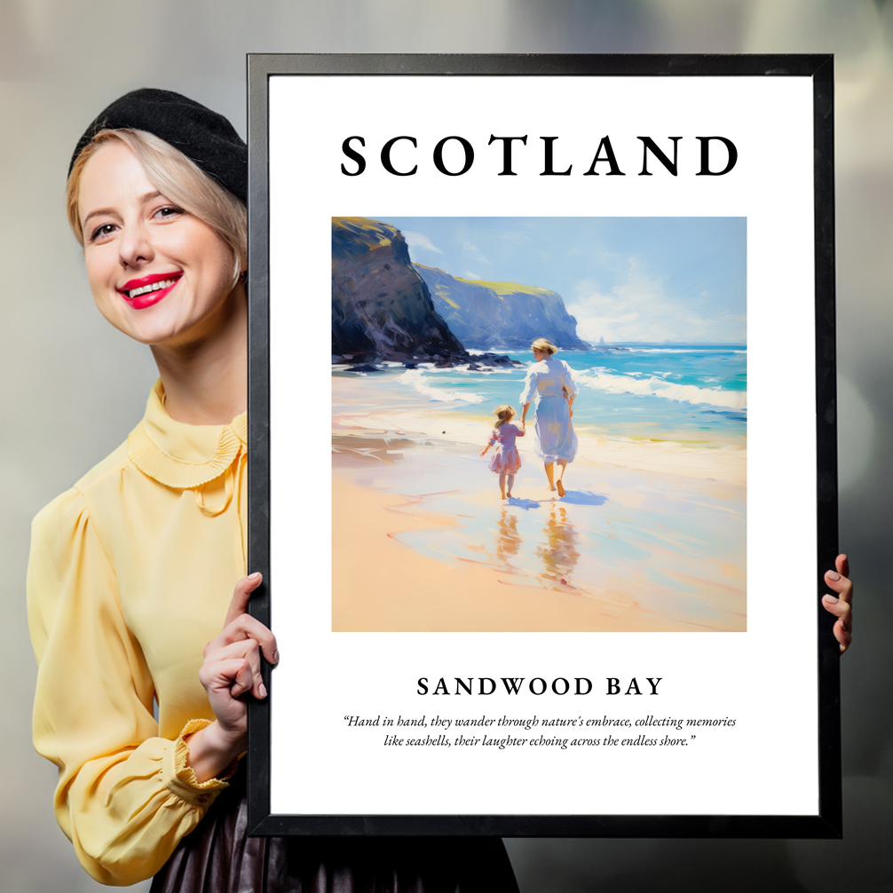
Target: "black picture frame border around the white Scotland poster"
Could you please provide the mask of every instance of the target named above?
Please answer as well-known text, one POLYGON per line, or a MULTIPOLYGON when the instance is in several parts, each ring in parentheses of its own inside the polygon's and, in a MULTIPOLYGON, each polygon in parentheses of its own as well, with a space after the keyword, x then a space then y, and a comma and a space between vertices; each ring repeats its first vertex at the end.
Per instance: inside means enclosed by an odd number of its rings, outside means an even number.
MULTIPOLYGON (((274 814, 271 812, 271 714, 276 673, 264 666, 270 697, 249 707, 248 818, 254 835, 499 835, 507 837, 837 838, 842 834, 839 651, 833 618, 823 611, 823 573, 838 543, 833 58, 785 55, 450 55, 249 54, 249 538, 248 565, 264 574, 251 612, 276 630, 271 576, 270 316, 268 90, 271 77, 306 75, 604 76, 809 78, 814 103, 814 281, 817 566, 814 572, 818 642, 819 803, 804 815, 470 815, 274 814)), ((308 767, 313 770, 313 767, 308 767)), ((301 767, 296 767, 301 771, 301 767)))

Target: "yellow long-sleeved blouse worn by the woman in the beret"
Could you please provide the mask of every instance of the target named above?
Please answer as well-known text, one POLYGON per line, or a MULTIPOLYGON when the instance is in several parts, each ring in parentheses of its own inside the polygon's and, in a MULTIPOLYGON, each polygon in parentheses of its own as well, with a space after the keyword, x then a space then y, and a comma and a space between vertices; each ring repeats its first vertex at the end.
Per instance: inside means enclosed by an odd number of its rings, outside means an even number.
POLYGON ((183 736, 213 720, 198 669, 245 574, 246 415, 187 425, 163 401, 159 381, 127 442, 32 528, 34 745, 104 884, 158 872, 226 787, 198 783, 183 736))

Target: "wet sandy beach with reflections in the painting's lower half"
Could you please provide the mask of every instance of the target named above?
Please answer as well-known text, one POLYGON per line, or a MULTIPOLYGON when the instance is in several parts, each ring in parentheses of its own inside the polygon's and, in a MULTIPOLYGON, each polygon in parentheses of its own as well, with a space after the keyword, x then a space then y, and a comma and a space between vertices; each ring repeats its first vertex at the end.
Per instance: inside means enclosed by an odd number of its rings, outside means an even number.
POLYGON ((487 408, 333 376, 333 630, 747 628, 744 438, 578 428, 566 495, 519 439, 513 498, 487 408))

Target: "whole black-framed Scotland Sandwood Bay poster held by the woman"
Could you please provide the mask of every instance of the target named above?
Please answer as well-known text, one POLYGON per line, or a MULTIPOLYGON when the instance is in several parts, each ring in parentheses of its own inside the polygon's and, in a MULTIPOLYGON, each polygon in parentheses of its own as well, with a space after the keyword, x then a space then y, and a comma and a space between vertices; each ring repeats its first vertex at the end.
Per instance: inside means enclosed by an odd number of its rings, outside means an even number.
POLYGON ((820 63, 252 57, 259 832, 837 833, 820 63))

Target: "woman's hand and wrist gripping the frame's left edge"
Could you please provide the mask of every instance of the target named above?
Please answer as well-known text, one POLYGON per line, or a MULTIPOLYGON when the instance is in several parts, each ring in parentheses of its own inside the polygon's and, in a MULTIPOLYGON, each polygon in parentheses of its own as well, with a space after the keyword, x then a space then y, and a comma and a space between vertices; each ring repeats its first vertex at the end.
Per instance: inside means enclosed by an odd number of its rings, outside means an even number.
POLYGON ((221 634, 204 647, 198 679, 216 719, 186 739, 188 764, 199 781, 219 775, 246 749, 248 705, 243 696, 267 697, 261 652, 270 663, 279 663, 276 637, 247 613, 248 599, 262 580, 253 573, 238 581, 221 634))

